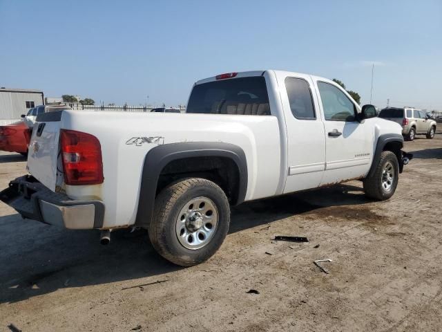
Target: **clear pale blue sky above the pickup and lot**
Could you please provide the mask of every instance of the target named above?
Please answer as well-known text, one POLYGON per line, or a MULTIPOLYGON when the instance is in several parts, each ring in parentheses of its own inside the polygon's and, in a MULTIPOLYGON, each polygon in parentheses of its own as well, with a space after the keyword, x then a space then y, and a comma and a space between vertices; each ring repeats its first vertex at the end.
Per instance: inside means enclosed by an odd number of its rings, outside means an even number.
POLYGON ((0 85, 185 104, 195 80, 284 69, 442 111, 442 1, 0 0, 0 85))

